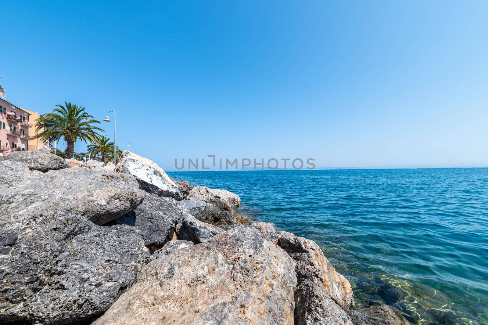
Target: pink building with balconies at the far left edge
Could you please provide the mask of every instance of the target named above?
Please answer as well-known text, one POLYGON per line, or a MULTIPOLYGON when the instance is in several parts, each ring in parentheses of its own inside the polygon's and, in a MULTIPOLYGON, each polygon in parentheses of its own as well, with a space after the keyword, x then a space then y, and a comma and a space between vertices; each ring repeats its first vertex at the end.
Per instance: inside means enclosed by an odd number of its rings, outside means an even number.
POLYGON ((0 153, 8 155, 12 151, 29 148, 30 114, 18 106, 0 99, 0 153))

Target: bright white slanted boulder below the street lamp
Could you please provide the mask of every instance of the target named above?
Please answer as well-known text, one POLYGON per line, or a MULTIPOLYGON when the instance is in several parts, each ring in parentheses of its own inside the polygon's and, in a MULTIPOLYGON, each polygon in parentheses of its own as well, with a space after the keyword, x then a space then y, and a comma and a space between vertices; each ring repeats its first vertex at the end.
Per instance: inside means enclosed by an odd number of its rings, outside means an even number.
POLYGON ((117 164, 116 171, 132 174, 139 182, 139 187, 158 196, 169 196, 181 201, 178 186, 171 181, 163 168, 153 161, 125 150, 117 164))

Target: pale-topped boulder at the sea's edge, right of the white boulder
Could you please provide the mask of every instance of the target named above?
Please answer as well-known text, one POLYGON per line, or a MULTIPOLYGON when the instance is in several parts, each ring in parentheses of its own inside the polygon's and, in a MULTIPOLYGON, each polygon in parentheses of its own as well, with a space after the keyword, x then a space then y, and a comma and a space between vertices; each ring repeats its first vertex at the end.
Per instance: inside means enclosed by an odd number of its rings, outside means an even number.
POLYGON ((185 200, 203 201, 215 206, 216 212, 228 211, 234 217, 241 205, 241 198, 227 190, 193 186, 185 200))

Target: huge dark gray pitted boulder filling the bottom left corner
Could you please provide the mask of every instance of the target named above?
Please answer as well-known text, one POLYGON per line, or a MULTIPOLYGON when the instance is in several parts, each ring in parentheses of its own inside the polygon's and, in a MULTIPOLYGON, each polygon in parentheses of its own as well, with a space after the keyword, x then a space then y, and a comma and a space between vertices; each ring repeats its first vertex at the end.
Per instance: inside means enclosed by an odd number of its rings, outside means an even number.
POLYGON ((0 216, 0 324, 87 322, 133 284, 149 252, 137 230, 67 212, 0 216))

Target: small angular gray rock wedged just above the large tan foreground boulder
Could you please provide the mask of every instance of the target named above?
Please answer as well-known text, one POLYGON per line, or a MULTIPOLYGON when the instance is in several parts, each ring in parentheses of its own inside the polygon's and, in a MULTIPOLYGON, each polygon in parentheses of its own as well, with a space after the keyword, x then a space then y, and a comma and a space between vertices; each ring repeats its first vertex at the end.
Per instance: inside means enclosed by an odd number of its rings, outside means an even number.
POLYGON ((176 228, 179 239, 191 241, 195 244, 206 242, 223 230, 215 225, 203 223, 191 214, 186 214, 183 222, 176 228))

